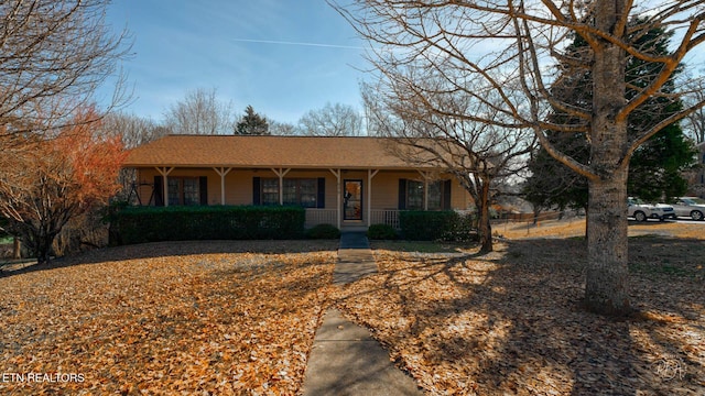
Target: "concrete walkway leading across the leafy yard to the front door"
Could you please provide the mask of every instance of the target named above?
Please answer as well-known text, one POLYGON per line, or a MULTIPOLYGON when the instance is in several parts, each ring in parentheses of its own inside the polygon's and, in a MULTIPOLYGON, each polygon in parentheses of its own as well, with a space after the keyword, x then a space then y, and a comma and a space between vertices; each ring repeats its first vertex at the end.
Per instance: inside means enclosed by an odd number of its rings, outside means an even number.
MULTIPOLYGON (((377 272, 369 241, 362 232, 344 232, 333 282, 355 282, 377 272)), ((329 309, 313 341, 303 394, 422 395, 416 383, 397 369, 370 332, 329 309)))

